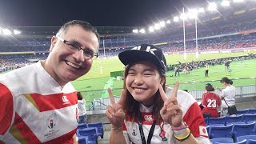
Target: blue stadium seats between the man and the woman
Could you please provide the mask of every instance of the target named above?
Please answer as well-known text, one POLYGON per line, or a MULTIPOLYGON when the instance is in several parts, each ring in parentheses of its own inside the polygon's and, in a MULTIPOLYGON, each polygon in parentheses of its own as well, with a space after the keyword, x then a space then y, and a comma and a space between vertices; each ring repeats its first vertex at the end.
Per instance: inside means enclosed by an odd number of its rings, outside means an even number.
POLYGON ((77 129, 78 142, 82 144, 96 144, 98 137, 103 138, 104 130, 102 122, 91 122, 78 124, 77 129))

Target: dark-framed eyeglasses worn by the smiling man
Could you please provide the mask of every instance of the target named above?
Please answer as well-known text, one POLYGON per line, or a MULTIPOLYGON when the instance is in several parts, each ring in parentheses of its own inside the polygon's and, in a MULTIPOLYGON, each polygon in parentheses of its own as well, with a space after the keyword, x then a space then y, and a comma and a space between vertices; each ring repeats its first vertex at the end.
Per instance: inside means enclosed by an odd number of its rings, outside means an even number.
POLYGON ((94 58, 94 56, 96 58, 98 58, 98 53, 95 53, 93 50, 90 50, 89 48, 83 49, 81 46, 78 46, 78 44, 75 42, 70 42, 70 41, 67 41, 67 40, 59 38, 59 37, 57 37, 57 38, 60 41, 62 41, 63 43, 65 43, 66 46, 68 46, 70 48, 70 50, 74 50, 73 52, 75 52, 75 50, 78 50, 78 51, 83 50, 83 58, 85 58, 85 59, 91 59, 91 58, 94 58))

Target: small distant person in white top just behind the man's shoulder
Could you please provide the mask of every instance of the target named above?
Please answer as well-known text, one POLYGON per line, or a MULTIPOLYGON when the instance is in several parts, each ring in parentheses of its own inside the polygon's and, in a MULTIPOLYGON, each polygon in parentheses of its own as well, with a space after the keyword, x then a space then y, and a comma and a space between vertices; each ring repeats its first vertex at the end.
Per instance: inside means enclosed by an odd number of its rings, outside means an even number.
POLYGON ((86 100, 82 98, 81 92, 78 92, 78 110, 79 110, 79 119, 78 123, 87 122, 87 113, 86 113, 86 100))

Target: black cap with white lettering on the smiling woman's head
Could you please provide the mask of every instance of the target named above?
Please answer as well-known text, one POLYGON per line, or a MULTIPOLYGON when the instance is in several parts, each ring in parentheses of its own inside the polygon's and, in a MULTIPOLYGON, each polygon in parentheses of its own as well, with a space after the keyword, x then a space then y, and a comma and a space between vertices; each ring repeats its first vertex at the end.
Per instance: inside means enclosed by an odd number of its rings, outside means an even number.
POLYGON ((138 61, 153 62, 155 66, 166 73, 166 58, 162 50, 154 45, 142 43, 118 54, 120 61, 126 66, 138 61))

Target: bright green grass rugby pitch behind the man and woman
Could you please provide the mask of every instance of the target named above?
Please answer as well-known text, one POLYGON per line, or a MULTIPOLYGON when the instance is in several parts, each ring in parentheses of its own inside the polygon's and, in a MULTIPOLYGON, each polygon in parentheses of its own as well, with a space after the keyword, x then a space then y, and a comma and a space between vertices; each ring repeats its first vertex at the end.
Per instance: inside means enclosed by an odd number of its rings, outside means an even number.
MULTIPOLYGON (((254 52, 255 53, 255 52, 254 52)), ((199 61, 205 59, 214 58, 227 58, 240 55, 246 55, 246 52, 239 53, 225 53, 225 54, 200 54, 199 58, 196 59, 194 54, 187 55, 187 60, 183 59, 182 54, 166 55, 167 65, 177 64, 177 61, 191 62, 192 60, 199 61)), ((86 98, 87 102, 93 101, 94 98, 106 98, 108 94, 106 93, 106 88, 111 87, 114 89, 114 95, 119 95, 122 89, 123 81, 118 81, 110 78, 111 71, 124 70, 124 66, 119 61, 118 58, 109 59, 97 59, 94 60, 92 69, 88 74, 79 78, 78 80, 72 82, 75 89, 82 91, 83 96, 86 98), (101 72, 102 70, 102 72, 101 72)), ((166 84, 172 86, 174 82, 179 81, 180 90, 200 90, 204 89, 206 82, 210 82, 214 87, 222 87, 219 80, 222 77, 227 76, 228 78, 246 78, 240 80, 234 80, 234 86, 242 85, 255 85, 255 71, 256 71, 256 59, 244 60, 242 62, 231 62, 230 63, 231 72, 225 71, 224 65, 210 66, 209 78, 204 77, 204 68, 199 68, 191 71, 190 74, 183 74, 179 77, 170 77, 174 75, 174 71, 169 71, 166 73, 166 84), (216 81, 218 80, 218 81, 216 81), (212 82, 216 81, 216 82, 212 82)))

